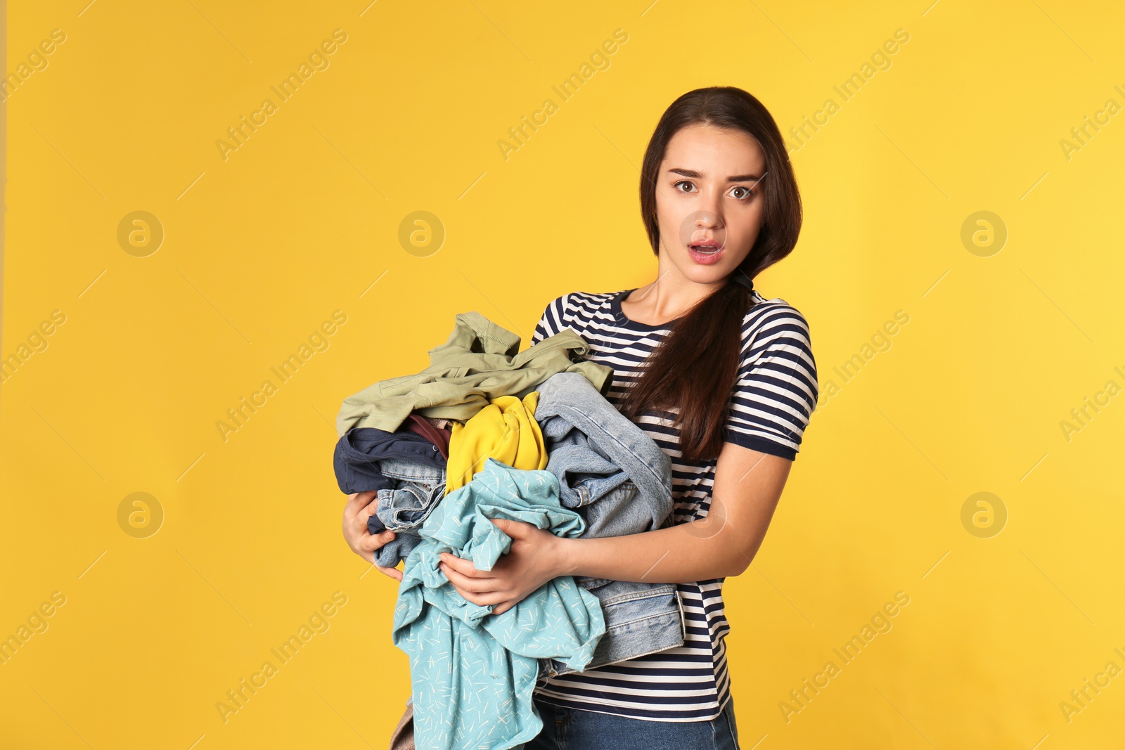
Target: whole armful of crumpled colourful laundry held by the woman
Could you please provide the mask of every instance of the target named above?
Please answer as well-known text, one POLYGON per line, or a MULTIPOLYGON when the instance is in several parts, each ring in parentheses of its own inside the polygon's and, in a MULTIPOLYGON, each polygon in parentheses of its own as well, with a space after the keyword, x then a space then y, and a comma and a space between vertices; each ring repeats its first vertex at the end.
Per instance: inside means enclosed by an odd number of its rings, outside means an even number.
POLYGON ((668 457, 606 400, 613 370, 569 328, 519 349, 459 313, 430 367, 349 396, 336 416, 340 489, 376 491, 368 528, 395 531, 376 562, 405 561, 393 640, 410 656, 418 750, 516 748, 542 728, 539 677, 684 642, 674 584, 564 576, 493 615, 439 569, 451 552, 490 570, 512 543, 490 518, 568 537, 672 523, 668 457))

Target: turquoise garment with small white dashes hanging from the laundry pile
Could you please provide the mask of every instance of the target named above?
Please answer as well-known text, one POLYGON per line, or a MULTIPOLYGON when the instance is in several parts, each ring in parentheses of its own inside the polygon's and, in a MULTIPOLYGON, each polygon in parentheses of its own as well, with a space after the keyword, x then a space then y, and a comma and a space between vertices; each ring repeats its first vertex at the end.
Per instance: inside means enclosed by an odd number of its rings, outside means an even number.
POLYGON ((495 459, 447 495, 422 525, 403 569, 393 639, 410 656, 418 750, 506 750, 542 729, 532 703, 540 658, 583 669, 605 633, 596 596, 560 576, 507 612, 465 599, 438 568, 442 552, 492 570, 512 539, 489 518, 512 518, 579 536, 582 516, 559 505, 546 470, 495 459))

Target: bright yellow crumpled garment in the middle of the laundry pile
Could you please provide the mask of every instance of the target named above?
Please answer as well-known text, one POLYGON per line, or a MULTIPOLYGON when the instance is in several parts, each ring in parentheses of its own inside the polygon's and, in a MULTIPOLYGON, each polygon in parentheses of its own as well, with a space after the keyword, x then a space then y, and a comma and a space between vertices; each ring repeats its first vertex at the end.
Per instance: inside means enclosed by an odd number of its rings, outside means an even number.
MULTIPOLYGON (((582 378, 578 373, 572 374, 582 378)), ((538 403, 538 390, 522 400, 515 396, 497 396, 464 425, 453 423, 446 494, 468 485, 488 458, 515 469, 546 469, 547 446, 536 422, 538 403)))

